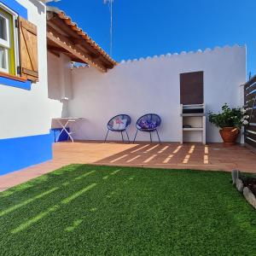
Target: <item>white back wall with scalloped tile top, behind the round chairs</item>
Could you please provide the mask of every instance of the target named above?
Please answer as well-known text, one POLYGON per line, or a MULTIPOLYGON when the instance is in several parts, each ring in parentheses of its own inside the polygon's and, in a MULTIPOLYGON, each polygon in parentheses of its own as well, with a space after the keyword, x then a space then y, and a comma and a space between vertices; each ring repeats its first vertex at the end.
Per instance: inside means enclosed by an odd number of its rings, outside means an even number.
MULTIPOLYGON (((102 140, 108 119, 118 113, 131 115, 131 138, 135 122, 144 113, 158 113, 162 119, 160 138, 180 140, 179 74, 204 72, 204 99, 207 112, 218 111, 224 102, 241 106, 246 81, 246 48, 224 47, 204 52, 166 55, 141 61, 126 61, 108 73, 95 68, 75 68, 72 72, 73 100, 68 102, 71 116, 86 120, 76 129, 77 139, 102 140)), ((156 139, 156 137, 154 137, 156 139)), ((111 133, 109 139, 119 140, 111 133)), ((139 134, 138 140, 148 140, 139 134)), ((220 142, 218 129, 207 122, 207 142, 220 142)))

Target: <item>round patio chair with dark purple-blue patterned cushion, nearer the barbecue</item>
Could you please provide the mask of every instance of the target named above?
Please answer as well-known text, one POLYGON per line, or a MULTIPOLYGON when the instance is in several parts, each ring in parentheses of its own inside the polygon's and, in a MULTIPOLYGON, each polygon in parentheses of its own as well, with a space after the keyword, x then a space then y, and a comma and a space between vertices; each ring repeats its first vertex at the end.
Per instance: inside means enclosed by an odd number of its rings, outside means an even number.
MULTIPOLYGON (((160 142, 160 137, 159 137, 159 134, 158 134, 158 131, 157 131, 160 124, 161 124, 161 119, 160 119, 160 116, 158 114, 156 114, 156 113, 147 113, 147 114, 144 114, 139 119, 137 119, 136 128, 137 128, 137 131, 148 132, 149 136, 150 136, 150 142, 151 143, 152 143, 151 132, 156 131, 158 140, 160 142)), ((137 137, 137 131, 136 131, 133 143, 135 142, 135 139, 137 137)))

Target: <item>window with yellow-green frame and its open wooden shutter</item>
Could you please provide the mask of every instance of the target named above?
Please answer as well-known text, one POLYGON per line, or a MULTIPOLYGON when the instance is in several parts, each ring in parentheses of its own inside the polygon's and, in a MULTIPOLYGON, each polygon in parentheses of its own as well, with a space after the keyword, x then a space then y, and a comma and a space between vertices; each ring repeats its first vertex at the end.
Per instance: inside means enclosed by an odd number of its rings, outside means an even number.
POLYGON ((38 81, 37 26, 0 3, 0 76, 38 81))

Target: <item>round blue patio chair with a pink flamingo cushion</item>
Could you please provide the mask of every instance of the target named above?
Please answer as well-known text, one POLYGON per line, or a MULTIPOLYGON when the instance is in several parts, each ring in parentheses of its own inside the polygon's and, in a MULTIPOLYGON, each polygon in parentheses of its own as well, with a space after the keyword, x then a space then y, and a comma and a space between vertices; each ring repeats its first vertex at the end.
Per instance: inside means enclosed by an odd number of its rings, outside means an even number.
POLYGON ((123 142, 125 141, 123 136, 123 131, 125 131, 126 136, 128 138, 128 142, 130 143, 130 139, 127 133, 127 128, 129 127, 129 125, 131 125, 131 117, 128 114, 121 113, 114 116, 112 119, 108 121, 108 125, 107 125, 108 131, 105 137, 105 143, 107 141, 109 131, 120 132, 123 142))

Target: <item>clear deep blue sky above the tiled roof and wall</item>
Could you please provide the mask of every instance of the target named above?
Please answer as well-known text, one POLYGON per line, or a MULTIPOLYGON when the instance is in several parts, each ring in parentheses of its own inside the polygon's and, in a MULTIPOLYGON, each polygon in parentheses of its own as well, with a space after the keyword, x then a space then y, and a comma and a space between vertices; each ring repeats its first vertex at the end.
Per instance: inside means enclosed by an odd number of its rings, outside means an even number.
MULTIPOLYGON (((51 3, 71 16, 109 53, 109 9, 103 0, 51 3)), ((116 61, 247 44, 247 71, 256 73, 256 0, 114 0, 116 61)))

